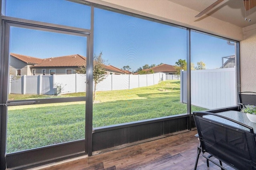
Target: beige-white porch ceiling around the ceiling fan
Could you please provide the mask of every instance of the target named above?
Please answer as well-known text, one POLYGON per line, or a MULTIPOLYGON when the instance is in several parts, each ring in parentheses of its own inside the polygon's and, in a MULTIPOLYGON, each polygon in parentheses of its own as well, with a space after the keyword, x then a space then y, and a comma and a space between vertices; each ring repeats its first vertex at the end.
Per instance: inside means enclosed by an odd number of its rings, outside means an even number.
MULTIPOLYGON (((198 11, 198 14, 216 2, 216 0, 170 0, 176 4, 180 4, 192 10, 198 11)), ((252 1, 252 0, 251 0, 252 1)), ((204 18, 212 16, 222 21, 226 21, 237 25, 239 27, 246 27, 256 23, 256 7, 245 12, 243 0, 224 0, 218 6, 199 18, 195 18, 195 21, 204 20, 204 18), (245 16, 247 21, 245 21, 245 16), (251 19, 249 22, 248 20, 251 19)))

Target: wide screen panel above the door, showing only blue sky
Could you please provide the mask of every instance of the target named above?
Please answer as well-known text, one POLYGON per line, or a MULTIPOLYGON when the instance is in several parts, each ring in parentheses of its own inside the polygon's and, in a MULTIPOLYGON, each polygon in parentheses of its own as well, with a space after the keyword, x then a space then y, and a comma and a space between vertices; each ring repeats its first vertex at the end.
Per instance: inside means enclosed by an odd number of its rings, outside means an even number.
POLYGON ((90 6, 66 0, 3 0, 2 14, 90 29, 90 6))

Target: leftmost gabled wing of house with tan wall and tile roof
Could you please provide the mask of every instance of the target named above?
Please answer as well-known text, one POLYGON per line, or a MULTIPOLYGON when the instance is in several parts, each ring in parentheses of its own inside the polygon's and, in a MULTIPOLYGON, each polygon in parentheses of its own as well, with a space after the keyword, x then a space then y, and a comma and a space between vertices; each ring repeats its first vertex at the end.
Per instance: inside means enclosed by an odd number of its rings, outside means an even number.
POLYGON ((10 53, 10 75, 32 75, 31 66, 40 64, 43 59, 10 53))

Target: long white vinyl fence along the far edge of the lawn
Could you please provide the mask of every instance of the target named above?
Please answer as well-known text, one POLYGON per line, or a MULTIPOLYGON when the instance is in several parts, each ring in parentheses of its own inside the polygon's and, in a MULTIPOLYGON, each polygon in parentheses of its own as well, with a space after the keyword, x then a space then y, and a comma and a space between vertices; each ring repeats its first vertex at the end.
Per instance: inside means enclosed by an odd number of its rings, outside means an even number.
MULTIPOLYGON (((143 75, 106 75, 106 79, 97 84, 96 91, 125 90, 152 86, 166 80, 164 73, 143 75)), ((56 95, 85 92, 86 74, 10 76, 10 94, 46 94, 56 95)))

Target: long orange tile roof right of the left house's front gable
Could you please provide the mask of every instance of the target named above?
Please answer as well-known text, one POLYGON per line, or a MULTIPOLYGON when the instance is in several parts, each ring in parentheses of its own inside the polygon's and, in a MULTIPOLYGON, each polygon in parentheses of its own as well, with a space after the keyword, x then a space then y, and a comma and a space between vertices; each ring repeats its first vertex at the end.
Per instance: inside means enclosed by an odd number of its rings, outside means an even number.
POLYGON ((67 66, 83 66, 86 64, 86 57, 82 55, 66 55, 62 57, 52 57, 43 59, 40 64, 32 67, 67 67, 67 66))

